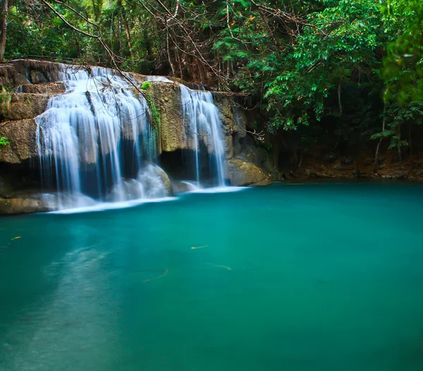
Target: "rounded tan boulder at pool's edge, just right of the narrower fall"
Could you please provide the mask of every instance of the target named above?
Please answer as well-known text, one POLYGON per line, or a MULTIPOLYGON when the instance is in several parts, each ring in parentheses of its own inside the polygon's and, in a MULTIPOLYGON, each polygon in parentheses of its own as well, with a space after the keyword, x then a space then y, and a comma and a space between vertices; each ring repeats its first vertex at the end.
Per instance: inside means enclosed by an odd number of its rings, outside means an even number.
POLYGON ((227 178, 231 185, 270 185, 271 178, 262 169, 246 162, 243 159, 234 157, 227 161, 227 178))

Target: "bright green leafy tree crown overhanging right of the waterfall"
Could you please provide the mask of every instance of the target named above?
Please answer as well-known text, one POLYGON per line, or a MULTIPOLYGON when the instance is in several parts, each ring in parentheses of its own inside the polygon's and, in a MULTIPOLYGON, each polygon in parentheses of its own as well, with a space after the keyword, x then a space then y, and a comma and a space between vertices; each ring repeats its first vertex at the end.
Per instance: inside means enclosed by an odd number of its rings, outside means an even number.
MULTIPOLYGON (((323 1, 322 1, 323 2, 323 1)), ((264 95, 272 126, 284 129, 309 125, 324 114, 341 115, 343 87, 379 78, 376 50, 382 46, 380 6, 373 0, 324 1, 322 11, 310 13, 309 27, 288 49, 283 71, 270 80, 264 95), (333 99, 341 90, 340 97, 333 99)))

